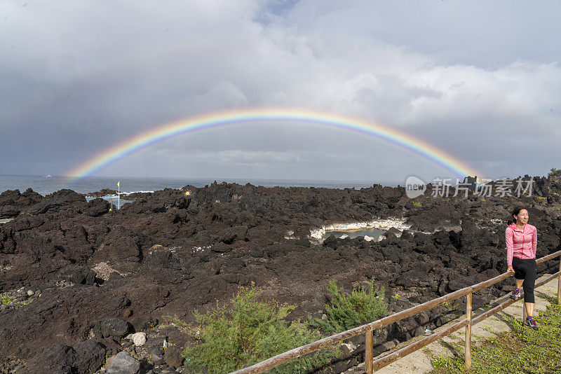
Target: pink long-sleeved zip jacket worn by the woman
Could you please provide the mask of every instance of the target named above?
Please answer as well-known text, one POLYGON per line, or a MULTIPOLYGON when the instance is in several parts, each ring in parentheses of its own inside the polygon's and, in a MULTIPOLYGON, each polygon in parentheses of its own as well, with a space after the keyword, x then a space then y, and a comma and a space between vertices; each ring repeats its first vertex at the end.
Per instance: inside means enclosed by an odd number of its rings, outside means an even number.
POLYGON ((506 265, 513 265, 513 256, 527 260, 536 258, 538 247, 538 229, 526 223, 522 230, 511 223, 505 230, 506 239, 506 265))

